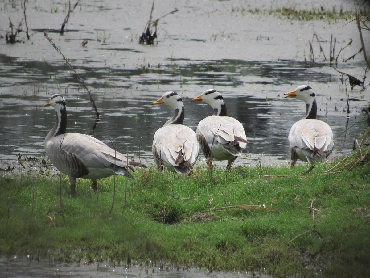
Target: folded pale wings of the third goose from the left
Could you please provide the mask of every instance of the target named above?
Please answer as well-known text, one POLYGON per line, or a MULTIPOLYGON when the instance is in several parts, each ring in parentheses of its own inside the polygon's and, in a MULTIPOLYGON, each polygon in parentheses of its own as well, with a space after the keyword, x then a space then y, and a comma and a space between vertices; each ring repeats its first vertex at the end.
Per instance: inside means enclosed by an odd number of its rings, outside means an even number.
POLYGON ((241 149, 248 143, 242 124, 232 117, 209 116, 199 122, 198 131, 203 133, 208 143, 215 138, 215 142, 235 145, 236 140, 241 149))

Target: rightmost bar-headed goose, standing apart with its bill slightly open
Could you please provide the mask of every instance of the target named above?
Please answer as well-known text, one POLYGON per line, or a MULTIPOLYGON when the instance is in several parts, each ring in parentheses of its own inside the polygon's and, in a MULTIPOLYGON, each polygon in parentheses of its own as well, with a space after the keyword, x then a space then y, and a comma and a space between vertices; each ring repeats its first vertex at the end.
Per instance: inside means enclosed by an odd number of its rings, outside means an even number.
POLYGON ((292 126, 288 136, 291 166, 297 159, 311 163, 325 160, 334 148, 333 132, 327 123, 316 120, 317 105, 312 88, 302 85, 284 95, 306 103, 306 115, 292 126))

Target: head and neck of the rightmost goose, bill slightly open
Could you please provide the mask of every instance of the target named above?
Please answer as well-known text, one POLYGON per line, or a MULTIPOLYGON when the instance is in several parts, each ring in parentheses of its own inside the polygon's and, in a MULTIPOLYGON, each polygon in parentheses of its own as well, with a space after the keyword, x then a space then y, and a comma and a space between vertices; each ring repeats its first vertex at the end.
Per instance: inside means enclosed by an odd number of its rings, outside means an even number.
POLYGON ((310 86, 301 85, 295 90, 285 93, 285 97, 295 97, 296 99, 303 100, 306 103, 306 115, 303 119, 316 119, 317 104, 315 92, 310 86))

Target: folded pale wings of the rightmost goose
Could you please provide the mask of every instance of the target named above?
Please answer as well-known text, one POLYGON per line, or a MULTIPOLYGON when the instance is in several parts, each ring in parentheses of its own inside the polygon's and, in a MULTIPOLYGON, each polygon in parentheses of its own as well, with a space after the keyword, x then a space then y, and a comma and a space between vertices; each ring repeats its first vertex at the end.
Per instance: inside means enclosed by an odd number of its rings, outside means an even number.
POLYGON ((327 123, 321 120, 302 119, 290 129, 288 142, 290 147, 332 151, 334 147, 333 132, 327 123))

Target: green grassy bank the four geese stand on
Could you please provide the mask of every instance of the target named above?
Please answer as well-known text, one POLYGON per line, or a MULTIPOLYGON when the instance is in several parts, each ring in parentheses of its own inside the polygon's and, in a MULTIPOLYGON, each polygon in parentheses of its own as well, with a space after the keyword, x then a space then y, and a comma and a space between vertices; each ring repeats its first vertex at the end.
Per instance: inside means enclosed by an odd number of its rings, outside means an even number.
POLYGON ((101 179, 97 192, 78 180, 73 198, 62 176, 61 213, 58 177, 3 172, 0 253, 368 277, 370 165, 325 172, 338 162, 306 175, 309 165, 212 174, 198 166, 191 176, 148 168, 128 180, 125 208, 126 179, 116 177, 111 213, 113 177, 101 179))

